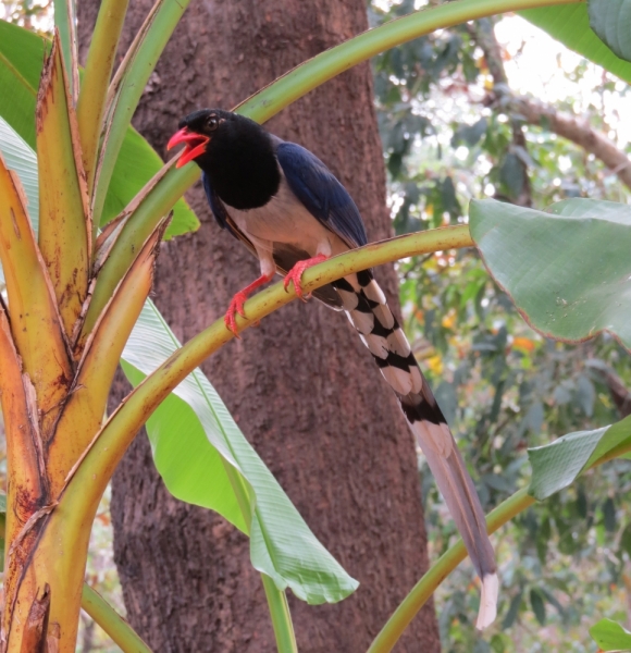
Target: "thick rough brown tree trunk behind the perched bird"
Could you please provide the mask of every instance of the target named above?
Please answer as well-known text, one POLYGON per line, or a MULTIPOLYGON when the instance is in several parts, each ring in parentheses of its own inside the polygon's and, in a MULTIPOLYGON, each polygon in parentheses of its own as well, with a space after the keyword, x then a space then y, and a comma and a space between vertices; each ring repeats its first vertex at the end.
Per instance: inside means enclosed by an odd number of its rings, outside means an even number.
MULTIPOLYGON (((94 0, 79 3, 88 42, 94 0), (91 21, 90 21, 91 19, 91 21)), ((150 4, 137 0, 126 47, 150 4)), ((231 108, 296 64, 368 27, 364 0, 193 2, 136 113, 165 153, 178 120, 231 108)), ((267 126, 318 155, 354 196, 369 238, 391 235, 369 65, 296 102, 267 126)), ((188 195, 198 233, 163 245, 154 299, 184 341, 221 318, 258 263, 188 195)), ((394 269, 378 270, 397 306, 394 269)), ((301 653, 366 651, 428 567, 415 443, 398 404, 343 315, 295 301, 208 360, 203 371, 323 544, 360 581, 338 605, 290 597, 301 653)), ((114 476, 114 550, 127 615, 154 651, 275 649, 248 541, 219 516, 172 498, 135 441, 114 476)), ((440 650, 432 605, 397 651, 440 650)))

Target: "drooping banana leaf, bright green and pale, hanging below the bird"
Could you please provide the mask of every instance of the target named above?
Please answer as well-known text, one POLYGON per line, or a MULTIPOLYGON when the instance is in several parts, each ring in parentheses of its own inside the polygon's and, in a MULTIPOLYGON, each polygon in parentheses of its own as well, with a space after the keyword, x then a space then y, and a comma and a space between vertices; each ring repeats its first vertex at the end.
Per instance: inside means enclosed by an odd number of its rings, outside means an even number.
MULTIPOLYGON (((123 353, 127 378, 138 384, 177 346, 156 307, 147 303, 123 353)), ((289 587, 312 604, 334 603, 355 591, 357 581, 316 539, 201 371, 175 389, 147 422, 147 432, 170 491, 249 530, 252 565, 279 589, 289 587), (247 488, 250 525, 239 510, 224 461, 247 488)))

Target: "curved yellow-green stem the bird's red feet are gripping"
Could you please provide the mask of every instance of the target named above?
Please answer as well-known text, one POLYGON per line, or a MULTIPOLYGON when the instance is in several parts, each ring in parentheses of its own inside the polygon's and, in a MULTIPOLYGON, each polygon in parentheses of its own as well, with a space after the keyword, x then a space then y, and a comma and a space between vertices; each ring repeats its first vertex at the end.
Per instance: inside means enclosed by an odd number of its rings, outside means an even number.
MULTIPOLYGON (((310 268, 305 272, 302 286, 305 292, 309 293, 341 276, 373 264, 385 263, 413 254, 428 254, 471 245, 467 226, 445 227, 394 238, 369 245, 310 268)), ((249 319, 239 317, 238 328, 246 329, 295 298, 293 288, 285 292, 282 283, 275 284, 246 303, 245 310, 249 319)), ((86 530, 84 526, 92 522, 108 481, 135 434, 187 374, 233 337, 223 320, 218 320, 177 349, 124 399, 95 438, 83 460, 69 475, 66 488, 47 521, 38 550, 46 552, 49 549, 54 547, 57 551, 61 547, 64 551, 75 549, 83 551, 81 545, 77 545, 76 533, 84 532, 86 530)), ((87 542, 85 550, 87 551, 87 542)), ((83 569, 82 562, 77 560, 76 574, 83 574, 83 569)), ((74 579, 65 577, 59 579, 62 587, 64 582, 71 584, 71 581, 74 579)))

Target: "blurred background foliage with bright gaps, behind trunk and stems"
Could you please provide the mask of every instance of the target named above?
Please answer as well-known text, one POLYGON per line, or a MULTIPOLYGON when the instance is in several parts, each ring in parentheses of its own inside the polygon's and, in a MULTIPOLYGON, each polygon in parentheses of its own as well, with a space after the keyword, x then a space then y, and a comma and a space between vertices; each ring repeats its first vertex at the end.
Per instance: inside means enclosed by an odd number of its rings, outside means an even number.
MULTIPOLYGON (((369 11, 376 25, 417 4, 373 0, 369 11)), ((1 12, 36 30, 51 27, 49 4, 3 1, 1 12)), ((568 197, 628 201, 628 189, 593 155, 545 126, 525 124, 505 72, 505 64, 519 63, 520 57, 520 44, 499 47, 494 24, 484 21, 417 39, 374 60, 397 233, 463 222, 472 197, 533 208, 568 197)), ((626 87, 584 60, 569 69, 557 63, 567 82, 583 89, 583 99, 554 98, 554 109, 580 112, 627 148, 616 122, 626 87)), ((399 273, 407 332, 477 471, 487 508, 527 484, 527 447, 627 414, 631 373, 622 347, 607 335, 578 346, 541 337, 490 280, 475 252, 403 261, 399 273)), ((456 531, 421 455, 419 469, 434 557, 456 531)), ((444 650, 584 651, 591 645, 595 651, 595 644, 586 644, 591 625, 605 616, 628 621, 629 471, 626 460, 595 469, 502 531, 495 540, 503 580, 499 618, 483 636, 471 620, 478 590, 470 565, 463 564, 440 590, 444 650)), ((92 535, 89 576, 121 607, 107 508, 106 500, 92 535)), ((115 650, 89 619, 84 626, 83 651, 115 650)))

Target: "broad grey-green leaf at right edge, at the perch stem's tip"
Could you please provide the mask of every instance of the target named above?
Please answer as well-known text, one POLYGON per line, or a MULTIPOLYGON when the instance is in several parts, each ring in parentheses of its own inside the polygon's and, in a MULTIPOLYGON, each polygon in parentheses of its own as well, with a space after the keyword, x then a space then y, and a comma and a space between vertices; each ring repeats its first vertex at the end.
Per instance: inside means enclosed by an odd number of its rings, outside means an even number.
POLYGON ((472 201, 471 235, 497 283, 548 337, 601 331, 631 348, 631 208, 570 199, 549 212, 472 201))

